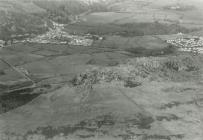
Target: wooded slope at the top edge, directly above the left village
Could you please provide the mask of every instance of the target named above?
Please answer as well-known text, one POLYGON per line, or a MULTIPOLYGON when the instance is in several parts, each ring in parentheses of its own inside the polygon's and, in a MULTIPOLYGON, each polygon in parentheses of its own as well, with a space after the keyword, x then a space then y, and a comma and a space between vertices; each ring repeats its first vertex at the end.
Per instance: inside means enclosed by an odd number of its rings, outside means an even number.
POLYGON ((84 12, 108 11, 104 3, 88 4, 81 0, 34 1, 34 3, 47 11, 49 19, 60 23, 68 23, 74 20, 76 15, 84 12))

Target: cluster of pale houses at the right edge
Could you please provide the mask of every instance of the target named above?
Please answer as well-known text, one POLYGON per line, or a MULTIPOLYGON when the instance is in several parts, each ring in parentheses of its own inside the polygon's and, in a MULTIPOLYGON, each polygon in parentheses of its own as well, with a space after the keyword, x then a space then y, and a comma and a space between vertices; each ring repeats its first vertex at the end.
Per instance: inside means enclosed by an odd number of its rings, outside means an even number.
POLYGON ((179 35, 176 39, 167 40, 167 43, 177 47, 179 51, 203 53, 203 37, 179 35))

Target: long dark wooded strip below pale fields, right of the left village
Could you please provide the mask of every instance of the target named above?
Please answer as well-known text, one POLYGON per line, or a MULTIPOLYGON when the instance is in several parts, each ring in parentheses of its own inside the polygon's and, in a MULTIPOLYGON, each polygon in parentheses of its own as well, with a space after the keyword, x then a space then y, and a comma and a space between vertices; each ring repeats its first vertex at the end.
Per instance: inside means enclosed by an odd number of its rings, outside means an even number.
POLYGON ((70 33, 77 34, 99 34, 99 35, 120 35, 123 37, 159 35, 159 34, 176 34, 179 32, 188 33, 197 31, 196 28, 188 29, 177 24, 166 24, 159 22, 143 22, 143 23, 87 23, 80 22, 66 26, 66 30, 70 33))

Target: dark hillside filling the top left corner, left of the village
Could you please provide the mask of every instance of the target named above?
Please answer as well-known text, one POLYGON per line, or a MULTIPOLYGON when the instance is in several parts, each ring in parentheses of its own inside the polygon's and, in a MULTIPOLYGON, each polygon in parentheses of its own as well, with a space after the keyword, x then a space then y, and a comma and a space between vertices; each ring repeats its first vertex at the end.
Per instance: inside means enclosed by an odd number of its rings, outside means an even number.
POLYGON ((0 1, 0 39, 8 41, 18 35, 45 32, 46 20, 37 16, 45 12, 32 2, 0 1))

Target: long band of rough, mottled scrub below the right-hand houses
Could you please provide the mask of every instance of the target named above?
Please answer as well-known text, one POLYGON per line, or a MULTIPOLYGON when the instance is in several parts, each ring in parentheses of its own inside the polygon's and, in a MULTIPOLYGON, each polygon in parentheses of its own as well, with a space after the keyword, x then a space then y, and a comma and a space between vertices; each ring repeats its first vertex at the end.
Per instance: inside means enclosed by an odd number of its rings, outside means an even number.
POLYGON ((121 81, 129 87, 131 85, 136 87, 141 84, 140 79, 149 79, 154 75, 159 79, 183 81, 198 77, 200 70, 201 62, 195 56, 140 57, 119 66, 94 67, 77 75, 72 80, 72 84, 92 86, 100 82, 121 81))

